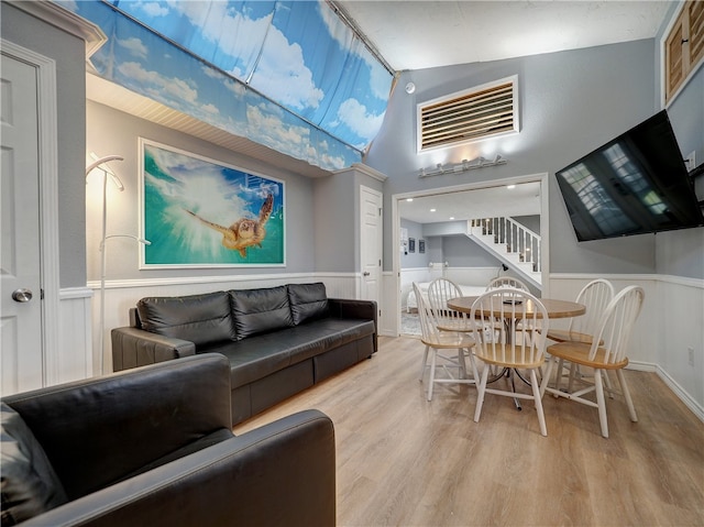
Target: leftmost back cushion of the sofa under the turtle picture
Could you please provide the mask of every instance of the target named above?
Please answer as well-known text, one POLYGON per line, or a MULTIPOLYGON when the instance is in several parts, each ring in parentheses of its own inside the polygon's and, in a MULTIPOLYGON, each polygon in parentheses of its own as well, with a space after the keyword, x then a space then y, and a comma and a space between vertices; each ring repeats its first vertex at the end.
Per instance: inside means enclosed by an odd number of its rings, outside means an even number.
POLYGON ((234 340, 230 298, 224 292, 146 297, 136 304, 142 329, 189 340, 196 347, 234 340))

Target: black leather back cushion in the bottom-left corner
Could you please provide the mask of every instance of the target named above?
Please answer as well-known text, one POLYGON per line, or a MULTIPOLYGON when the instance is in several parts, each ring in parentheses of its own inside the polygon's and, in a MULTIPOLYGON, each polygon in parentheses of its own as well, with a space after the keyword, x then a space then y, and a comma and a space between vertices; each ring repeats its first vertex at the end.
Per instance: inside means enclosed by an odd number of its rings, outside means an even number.
POLYGON ((66 493, 44 449, 24 419, 0 403, 2 525, 16 525, 66 503, 66 493))

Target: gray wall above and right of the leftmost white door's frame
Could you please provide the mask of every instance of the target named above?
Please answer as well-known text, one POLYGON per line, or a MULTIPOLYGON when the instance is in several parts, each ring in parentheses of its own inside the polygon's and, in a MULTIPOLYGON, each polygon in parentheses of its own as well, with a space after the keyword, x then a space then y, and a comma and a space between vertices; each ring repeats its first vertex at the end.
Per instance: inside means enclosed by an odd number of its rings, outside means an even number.
POLYGON ((2 2, 2 39, 56 62, 59 286, 86 285, 86 46, 2 2))

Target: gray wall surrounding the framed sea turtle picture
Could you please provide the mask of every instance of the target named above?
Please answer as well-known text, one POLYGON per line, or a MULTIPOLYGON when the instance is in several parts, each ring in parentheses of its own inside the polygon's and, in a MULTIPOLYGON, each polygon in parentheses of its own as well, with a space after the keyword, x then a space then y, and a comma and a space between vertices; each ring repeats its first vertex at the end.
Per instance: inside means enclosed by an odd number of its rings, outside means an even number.
MULTIPOLYGON (((257 160, 243 156, 212 143, 161 127, 128 113, 114 110, 97 102, 87 102, 88 130, 87 150, 98 155, 120 154, 124 161, 112 162, 110 166, 124 184, 123 193, 112 193, 108 204, 108 234, 139 233, 139 138, 164 143, 176 149, 227 163, 245 171, 282 179, 286 193, 286 267, 228 267, 228 268, 175 268, 140 271, 138 266, 138 244, 129 239, 111 240, 108 246, 107 277, 154 278, 175 276, 223 276, 268 274, 268 273, 309 273, 315 271, 316 255, 311 248, 316 233, 314 223, 314 179, 288 173, 266 165, 257 160)), ((81 152, 81 161, 85 154, 81 152)), ((81 168, 82 169, 82 168, 81 168)), ((86 185, 82 184, 85 187, 86 185)), ((89 184, 88 202, 85 209, 88 217, 88 279, 99 279, 100 204, 96 204, 92 184, 89 184)), ((352 209, 353 210, 353 209, 352 209)), ((344 215, 351 213, 342 211, 344 215)), ((348 223, 350 221, 348 220, 348 223)))

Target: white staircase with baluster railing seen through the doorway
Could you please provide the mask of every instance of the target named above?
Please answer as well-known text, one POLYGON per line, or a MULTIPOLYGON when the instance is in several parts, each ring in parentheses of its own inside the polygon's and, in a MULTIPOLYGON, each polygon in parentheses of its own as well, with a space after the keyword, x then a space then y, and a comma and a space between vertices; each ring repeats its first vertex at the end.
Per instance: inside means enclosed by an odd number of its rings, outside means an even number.
POLYGON ((521 279, 542 289, 540 234, 512 218, 468 220, 468 237, 510 267, 521 279))

